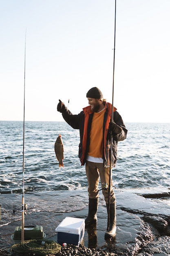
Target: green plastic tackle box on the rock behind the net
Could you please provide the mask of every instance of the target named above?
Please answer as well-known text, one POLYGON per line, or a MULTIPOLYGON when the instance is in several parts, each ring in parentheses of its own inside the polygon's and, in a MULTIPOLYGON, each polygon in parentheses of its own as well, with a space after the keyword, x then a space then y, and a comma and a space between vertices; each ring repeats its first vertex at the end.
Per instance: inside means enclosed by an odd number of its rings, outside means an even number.
MULTIPOLYGON (((16 227, 13 235, 11 236, 14 243, 20 243, 21 241, 21 230, 22 226, 16 227)), ((44 234, 42 226, 32 225, 24 226, 24 240, 33 240, 33 239, 44 239, 46 234, 44 234)))

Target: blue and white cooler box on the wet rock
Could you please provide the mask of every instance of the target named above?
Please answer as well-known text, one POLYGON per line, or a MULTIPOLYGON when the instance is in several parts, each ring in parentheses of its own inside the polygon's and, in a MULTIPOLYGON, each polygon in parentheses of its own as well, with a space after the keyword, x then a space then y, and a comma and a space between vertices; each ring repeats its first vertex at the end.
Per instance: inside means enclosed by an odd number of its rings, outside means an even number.
POLYGON ((84 231, 84 219, 66 217, 55 229, 55 232, 58 232, 57 242, 60 245, 68 243, 79 246, 84 237, 84 231))

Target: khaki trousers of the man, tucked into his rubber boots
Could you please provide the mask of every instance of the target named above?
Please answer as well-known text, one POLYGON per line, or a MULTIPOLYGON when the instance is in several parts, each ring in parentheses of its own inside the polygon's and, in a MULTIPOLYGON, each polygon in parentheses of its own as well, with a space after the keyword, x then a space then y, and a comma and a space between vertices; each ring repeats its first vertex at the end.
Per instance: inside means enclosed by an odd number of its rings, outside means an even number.
MULTIPOLYGON (((108 204, 108 188, 104 189, 104 184, 109 184, 109 173, 110 168, 105 168, 102 163, 93 163, 86 161, 86 175, 88 180, 88 197, 98 198, 99 197, 99 177, 102 184, 102 193, 104 200, 108 204)), ((112 170, 111 170, 112 177, 112 170)), ((115 202, 115 194, 113 191, 112 179, 110 182, 110 204, 115 202)))

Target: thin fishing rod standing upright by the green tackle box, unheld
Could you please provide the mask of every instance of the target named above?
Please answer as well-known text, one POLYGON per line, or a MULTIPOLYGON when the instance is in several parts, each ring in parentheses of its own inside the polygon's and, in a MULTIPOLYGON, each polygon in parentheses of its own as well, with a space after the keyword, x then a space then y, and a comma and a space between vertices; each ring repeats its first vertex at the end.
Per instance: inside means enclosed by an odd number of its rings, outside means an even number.
MULTIPOLYGON (((25 56, 26 56, 26 31, 25 31, 25 56)), ((24 241, 25 56, 24 56, 24 127, 23 127, 23 162, 22 162, 22 229, 21 229, 21 242, 24 241)))

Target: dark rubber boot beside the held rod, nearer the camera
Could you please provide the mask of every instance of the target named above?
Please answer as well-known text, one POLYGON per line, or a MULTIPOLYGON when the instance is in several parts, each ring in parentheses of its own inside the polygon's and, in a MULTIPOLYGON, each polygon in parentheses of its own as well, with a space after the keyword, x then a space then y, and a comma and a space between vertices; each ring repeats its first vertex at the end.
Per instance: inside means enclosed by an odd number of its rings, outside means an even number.
MULTIPOLYGON (((106 204, 107 212, 108 212, 108 204, 106 204)), ((113 238, 116 236, 116 202, 110 204, 110 221, 109 221, 109 230, 106 230, 105 240, 109 238, 113 238)))

